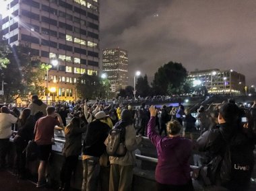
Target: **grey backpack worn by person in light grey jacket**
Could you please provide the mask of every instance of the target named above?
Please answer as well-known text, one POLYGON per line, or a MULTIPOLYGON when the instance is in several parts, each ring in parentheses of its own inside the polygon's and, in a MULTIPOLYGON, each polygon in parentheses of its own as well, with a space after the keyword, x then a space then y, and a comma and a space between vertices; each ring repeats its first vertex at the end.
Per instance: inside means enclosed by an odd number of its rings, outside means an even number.
POLYGON ((125 147, 125 123, 117 122, 108 133, 106 153, 112 157, 123 157, 127 152, 125 147))

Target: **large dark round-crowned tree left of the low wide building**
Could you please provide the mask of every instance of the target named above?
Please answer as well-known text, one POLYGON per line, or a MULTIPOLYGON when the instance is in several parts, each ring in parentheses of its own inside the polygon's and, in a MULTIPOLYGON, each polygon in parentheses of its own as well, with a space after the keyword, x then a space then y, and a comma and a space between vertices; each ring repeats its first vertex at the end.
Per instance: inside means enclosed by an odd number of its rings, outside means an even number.
POLYGON ((181 63, 169 63, 158 69, 152 83, 154 93, 158 95, 184 93, 187 70, 181 63))

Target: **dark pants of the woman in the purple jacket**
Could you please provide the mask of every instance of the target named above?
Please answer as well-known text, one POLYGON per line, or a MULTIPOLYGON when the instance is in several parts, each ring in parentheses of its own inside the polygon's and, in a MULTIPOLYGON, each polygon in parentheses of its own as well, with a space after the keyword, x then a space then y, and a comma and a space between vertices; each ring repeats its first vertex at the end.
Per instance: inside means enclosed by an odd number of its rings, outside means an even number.
POLYGON ((187 184, 183 185, 172 185, 172 184, 160 184, 156 182, 156 188, 158 191, 193 191, 192 180, 187 184))

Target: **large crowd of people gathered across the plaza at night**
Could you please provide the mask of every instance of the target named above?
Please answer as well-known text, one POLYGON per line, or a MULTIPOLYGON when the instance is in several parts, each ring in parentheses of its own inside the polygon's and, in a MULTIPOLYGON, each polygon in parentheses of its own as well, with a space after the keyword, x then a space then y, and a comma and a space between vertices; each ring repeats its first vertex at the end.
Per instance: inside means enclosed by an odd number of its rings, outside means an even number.
POLYGON ((251 108, 245 108, 229 100, 210 104, 207 108, 198 106, 195 111, 182 104, 177 108, 164 105, 156 108, 142 103, 139 108, 134 108, 129 104, 107 105, 100 101, 89 104, 88 100, 46 106, 37 95, 33 95, 32 102, 21 113, 15 108, 1 107, 1 168, 6 167, 5 157, 13 124, 18 126, 13 142, 16 147, 15 168, 20 178, 28 176, 28 159, 24 151, 29 141, 34 140, 38 146, 38 188, 47 184, 47 164, 54 130, 57 129, 65 134, 65 160, 60 171, 59 190, 70 189, 79 155, 82 155, 84 167, 82 190, 131 190, 135 149, 139 148, 144 136, 152 141, 158 153, 155 172, 158 190, 194 190, 189 165, 195 151, 203 153, 197 161, 202 167, 201 174, 207 167, 210 175, 207 176, 210 184, 203 183, 204 186, 214 190, 249 190, 256 141, 256 102, 251 108), (67 116, 71 118, 68 123, 67 116), (125 123, 127 153, 123 157, 108 157, 108 132, 119 122, 125 123), (226 153, 229 153, 229 165, 233 166, 224 181, 223 177, 227 175, 222 173, 222 168, 227 165, 222 163, 227 161, 226 153), (240 154, 245 155, 247 163, 234 163, 240 154))

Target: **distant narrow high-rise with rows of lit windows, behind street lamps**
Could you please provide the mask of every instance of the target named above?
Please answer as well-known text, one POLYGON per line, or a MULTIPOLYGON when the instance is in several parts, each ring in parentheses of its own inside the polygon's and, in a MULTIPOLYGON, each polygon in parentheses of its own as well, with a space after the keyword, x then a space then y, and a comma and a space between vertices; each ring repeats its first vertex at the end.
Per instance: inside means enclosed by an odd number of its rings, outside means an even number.
MULTIPOLYGON (((107 48, 102 54, 102 73, 106 73, 115 91, 128 85, 128 52, 121 48, 107 48)), ((113 91, 113 90, 112 90, 113 91)))

